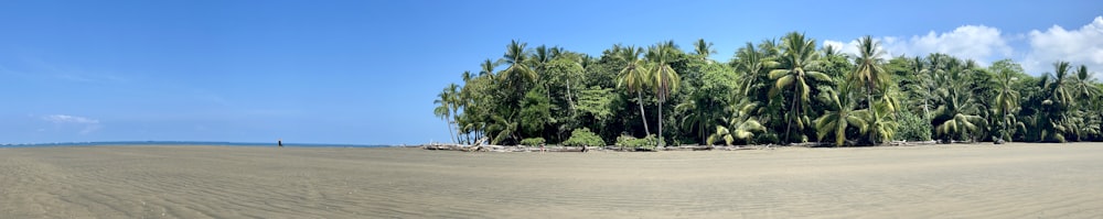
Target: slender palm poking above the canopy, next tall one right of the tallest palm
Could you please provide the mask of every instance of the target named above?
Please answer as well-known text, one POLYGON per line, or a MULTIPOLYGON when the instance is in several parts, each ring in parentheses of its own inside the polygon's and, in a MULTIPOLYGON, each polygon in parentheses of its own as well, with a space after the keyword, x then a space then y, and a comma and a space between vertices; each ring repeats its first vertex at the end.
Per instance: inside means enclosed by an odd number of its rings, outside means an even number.
POLYGON ((849 75, 848 79, 866 87, 866 102, 872 106, 874 89, 891 83, 888 73, 881 67, 885 59, 880 56, 885 55, 885 51, 881 51, 878 43, 874 42, 869 35, 859 40, 858 51, 860 54, 855 59, 858 63, 858 68, 849 75))

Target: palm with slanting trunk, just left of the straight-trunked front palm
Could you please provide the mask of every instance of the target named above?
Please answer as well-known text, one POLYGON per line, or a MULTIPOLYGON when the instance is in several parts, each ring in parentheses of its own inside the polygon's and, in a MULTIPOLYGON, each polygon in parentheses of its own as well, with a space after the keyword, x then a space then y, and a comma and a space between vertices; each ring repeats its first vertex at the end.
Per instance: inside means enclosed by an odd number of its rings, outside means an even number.
POLYGON ((625 63, 624 68, 621 69, 619 76, 618 87, 624 87, 629 92, 635 91, 636 102, 640 105, 640 120, 643 120, 643 135, 651 134, 651 130, 647 129, 647 117, 643 110, 643 89, 647 86, 651 80, 647 75, 646 62, 640 58, 643 54, 642 47, 628 46, 620 47, 620 45, 614 45, 614 48, 619 48, 617 57, 625 63))

